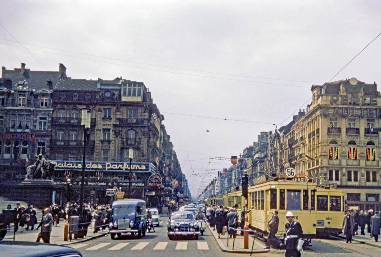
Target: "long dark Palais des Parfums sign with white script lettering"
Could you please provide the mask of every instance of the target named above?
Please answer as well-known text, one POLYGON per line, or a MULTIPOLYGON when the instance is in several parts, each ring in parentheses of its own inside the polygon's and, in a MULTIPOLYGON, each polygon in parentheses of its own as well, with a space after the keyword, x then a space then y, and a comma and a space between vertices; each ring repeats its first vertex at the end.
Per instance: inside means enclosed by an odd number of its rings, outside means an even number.
MULTIPOLYGON (((57 161, 56 170, 77 170, 82 171, 82 161, 57 161)), ((134 172, 151 172, 156 171, 156 167, 152 163, 132 163, 131 169, 134 172)), ((125 162, 106 162, 106 161, 86 161, 85 171, 130 171, 130 163, 125 162)))

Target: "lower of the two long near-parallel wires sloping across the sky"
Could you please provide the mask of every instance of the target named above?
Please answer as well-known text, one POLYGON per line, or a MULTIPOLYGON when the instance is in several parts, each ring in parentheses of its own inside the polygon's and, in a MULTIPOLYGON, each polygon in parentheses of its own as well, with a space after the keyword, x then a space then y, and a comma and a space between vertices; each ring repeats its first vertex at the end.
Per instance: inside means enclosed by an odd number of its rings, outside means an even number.
MULTIPOLYGON (((0 44, 2 44, 2 45, 9 45, 9 46, 15 46, 15 47, 21 47, 21 46, 10 45, 10 44, 5 44, 5 43, 0 43, 0 44)), ((166 72, 166 73, 172 73, 172 74, 187 75, 187 76, 192 76, 192 77, 215 78, 215 79, 220 79, 220 80, 240 81, 240 82, 258 83, 258 84, 275 85, 275 86, 291 86, 291 87, 297 87, 297 88, 308 88, 306 86, 298 86, 298 85, 290 85, 290 84, 268 83, 268 82, 253 81, 253 80, 238 80, 238 79, 234 79, 234 78, 222 78, 222 77, 197 75, 197 74, 190 74, 190 73, 183 73, 183 72, 173 72, 173 71, 169 71, 169 70, 150 69, 150 68, 137 67, 137 66, 126 65, 126 64, 118 64, 118 63, 115 63, 115 62, 106 62, 106 61, 87 59, 87 58, 78 57, 78 56, 72 56, 72 55, 68 55, 68 54, 53 53, 53 52, 43 51, 43 50, 38 50, 38 49, 33 49, 33 48, 28 48, 28 49, 33 50, 33 51, 39 51, 39 52, 42 52, 42 53, 56 54, 56 55, 60 55, 60 56, 72 57, 72 58, 86 60, 86 61, 100 62, 100 63, 105 63, 105 64, 112 64, 112 65, 117 65, 117 66, 135 68, 135 69, 152 70, 152 71, 157 71, 157 72, 166 72)))

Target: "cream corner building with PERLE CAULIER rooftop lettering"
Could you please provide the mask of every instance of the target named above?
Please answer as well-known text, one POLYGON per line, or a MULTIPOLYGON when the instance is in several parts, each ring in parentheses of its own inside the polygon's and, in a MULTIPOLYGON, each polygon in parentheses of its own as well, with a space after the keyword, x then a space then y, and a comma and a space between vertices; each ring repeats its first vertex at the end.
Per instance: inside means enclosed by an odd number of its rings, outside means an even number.
MULTIPOLYGON (((306 115, 293 125, 296 172, 335 184, 349 206, 380 208, 381 96, 376 83, 355 78, 312 85, 306 115)), ((289 142, 291 139, 288 139, 289 142)))

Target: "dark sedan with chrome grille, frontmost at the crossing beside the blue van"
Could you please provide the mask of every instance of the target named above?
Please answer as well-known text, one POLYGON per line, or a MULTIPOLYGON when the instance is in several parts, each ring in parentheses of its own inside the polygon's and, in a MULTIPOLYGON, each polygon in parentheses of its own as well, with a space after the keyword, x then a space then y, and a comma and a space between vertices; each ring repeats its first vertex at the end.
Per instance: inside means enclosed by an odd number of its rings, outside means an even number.
POLYGON ((167 235, 170 240, 178 236, 192 236, 199 239, 200 228, 191 211, 172 212, 167 222, 167 235))

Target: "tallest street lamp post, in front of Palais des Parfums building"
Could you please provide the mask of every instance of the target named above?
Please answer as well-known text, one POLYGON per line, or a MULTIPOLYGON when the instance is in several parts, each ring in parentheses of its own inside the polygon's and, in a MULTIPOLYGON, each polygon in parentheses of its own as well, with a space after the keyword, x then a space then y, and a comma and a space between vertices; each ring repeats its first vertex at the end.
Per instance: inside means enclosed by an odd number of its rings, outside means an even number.
MULTIPOLYGON (((85 184, 85 155, 86 155, 86 136, 87 131, 90 128, 91 112, 87 109, 82 110, 81 125, 83 128, 83 156, 82 156, 82 179, 81 179, 81 197, 79 203, 79 223, 83 223, 83 184, 85 184)), ((78 229, 82 228, 82 225, 78 226, 78 229)), ((83 231, 78 231, 78 237, 83 237, 83 231)))

